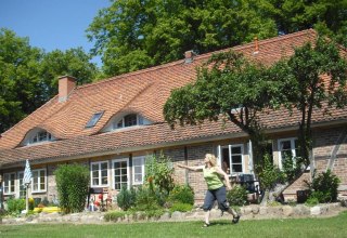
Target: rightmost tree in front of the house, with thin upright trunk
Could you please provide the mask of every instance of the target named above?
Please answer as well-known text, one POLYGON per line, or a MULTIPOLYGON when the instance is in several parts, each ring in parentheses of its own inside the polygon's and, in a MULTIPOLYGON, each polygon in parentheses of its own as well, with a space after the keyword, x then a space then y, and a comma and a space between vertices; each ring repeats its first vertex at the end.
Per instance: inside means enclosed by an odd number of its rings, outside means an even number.
POLYGON ((304 163, 310 163, 312 150, 311 122, 313 109, 343 108, 347 103, 347 62, 339 48, 326 39, 318 38, 312 45, 295 49, 284 62, 273 66, 278 81, 282 81, 281 103, 291 111, 301 114, 299 149, 304 163), (323 76, 329 79, 324 80, 323 76))

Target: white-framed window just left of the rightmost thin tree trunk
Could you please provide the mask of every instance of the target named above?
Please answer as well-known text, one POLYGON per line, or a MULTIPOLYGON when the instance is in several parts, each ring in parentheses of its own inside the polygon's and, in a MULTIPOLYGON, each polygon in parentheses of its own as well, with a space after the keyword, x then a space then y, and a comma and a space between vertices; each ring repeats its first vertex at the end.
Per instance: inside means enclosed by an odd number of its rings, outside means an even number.
POLYGON ((295 162, 295 157, 298 154, 298 141, 297 138, 282 138, 279 140, 279 167, 283 168, 286 159, 292 159, 295 162))

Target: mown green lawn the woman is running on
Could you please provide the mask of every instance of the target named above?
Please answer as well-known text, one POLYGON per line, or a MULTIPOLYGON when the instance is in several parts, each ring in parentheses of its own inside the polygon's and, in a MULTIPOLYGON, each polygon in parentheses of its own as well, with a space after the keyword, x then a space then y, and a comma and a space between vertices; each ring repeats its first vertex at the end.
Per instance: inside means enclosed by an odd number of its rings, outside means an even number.
POLYGON ((202 228, 203 222, 133 223, 103 225, 25 224, 0 225, 0 237, 347 237, 347 212, 334 217, 242 221, 213 221, 202 228))

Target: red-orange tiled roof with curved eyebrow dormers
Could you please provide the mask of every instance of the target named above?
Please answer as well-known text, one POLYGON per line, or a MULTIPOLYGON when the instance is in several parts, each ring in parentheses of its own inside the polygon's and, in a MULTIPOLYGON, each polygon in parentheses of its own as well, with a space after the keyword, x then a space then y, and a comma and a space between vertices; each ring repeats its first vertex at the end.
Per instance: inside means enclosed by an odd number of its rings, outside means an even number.
MULTIPOLYGON (((272 64, 283 56, 290 56, 294 47, 299 47, 316 38, 313 30, 259 41, 259 52, 253 54, 254 43, 233 48, 247 57, 272 64)), ((193 63, 177 61, 95 83, 81 85, 73 91, 65 103, 57 96, 46 103, 31 115, 18 122, 0 138, 0 166, 23 159, 52 159, 92 155, 117 149, 160 146, 191 140, 208 138, 230 133, 241 133, 240 129, 228 122, 222 130, 221 122, 207 122, 200 127, 177 127, 170 130, 164 122, 163 106, 175 88, 195 80, 196 67, 211 53, 194 57, 193 63), (86 129, 92 115, 104 111, 95 127, 86 129), (154 122, 152 125, 100 133, 111 118, 123 111, 134 111, 154 122), (55 142, 18 146, 25 135, 34 128, 42 128, 57 138, 55 142)), ((294 116, 283 117, 285 113, 264 116, 268 128, 286 127, 297 123, 294 116)), ((338 120, 346 118, 344 111, 333 117, 320 115, 316 120, 338 120)))

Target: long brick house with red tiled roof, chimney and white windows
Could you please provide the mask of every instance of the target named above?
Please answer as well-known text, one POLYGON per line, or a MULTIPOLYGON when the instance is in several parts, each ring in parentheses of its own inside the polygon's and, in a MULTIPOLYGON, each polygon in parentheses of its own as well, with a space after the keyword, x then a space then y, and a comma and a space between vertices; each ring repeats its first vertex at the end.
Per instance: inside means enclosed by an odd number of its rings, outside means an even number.
MULTIPOLYGON (((232 50, 246 57, 272 64, 290 56, 295 47, 316 39, 313 30, 261 40, 232 50)), ((193 82, 196 67, 213 53, 194 55, 166 65, 76 87, 75 79, 59 79, 59 94, 0 137, 0 174, 4 198, 23 197, 26 159, 33 181, 29 196, 56 199, 54 171, 59 164, 81 163, 90 170, 90 187, 103 188, 114 198, 121 186, 140 185, 144 177, 146 156, 168 156, 175 168, 175 180, 189 183, 197 202, 206 185, 201 174, 177 167, 202 164, 206 153, 215 154, 218 163, 230 168, 231 176, 254 174, 252 142, 232 122, 206 121, 202 125, 177 127, 165 122, 163 106, 171 90, 193 82)), ((260 116, 269 135, 269 149, 282 168, 283 155, 296 155, 299 114, 286 110, 260 116)), ((310 170, 284 193, 296 199, 304 180, 311 172, 331 169, 347 186, 347 111, 331 115, 316 110, 312 120, 313 160, 310 170)), ((261 186, 261 184, 260 184, 261 186)))

